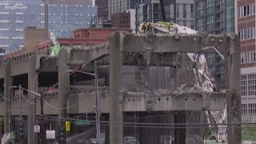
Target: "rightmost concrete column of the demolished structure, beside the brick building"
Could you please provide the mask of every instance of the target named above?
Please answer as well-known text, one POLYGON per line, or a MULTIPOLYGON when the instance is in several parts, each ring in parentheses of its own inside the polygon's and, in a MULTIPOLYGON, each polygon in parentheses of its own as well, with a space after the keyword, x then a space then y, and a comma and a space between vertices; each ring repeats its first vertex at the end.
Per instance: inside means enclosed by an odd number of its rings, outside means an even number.
MULTIPOLYGON (((240 123, 241 122, 241 71, 240 71, 240 40, 236 35, 234 38, 234 45, 226 43, 226 47, 231 46, 230 57, 227 58, 227 80, 229 80, 230 90, 227 93, 227 122, 240 123)), ((241 125, 228 125, 227 130, 228 143, 240 144, 242 143, 242 129, 241 125)))

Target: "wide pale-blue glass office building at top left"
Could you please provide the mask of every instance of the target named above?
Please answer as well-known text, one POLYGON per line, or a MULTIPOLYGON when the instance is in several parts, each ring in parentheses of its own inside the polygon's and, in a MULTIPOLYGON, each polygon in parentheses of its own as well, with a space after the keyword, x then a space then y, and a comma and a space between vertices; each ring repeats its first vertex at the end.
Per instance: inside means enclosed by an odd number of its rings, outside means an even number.
MULTIPOLYGON (((89 0, 49 0, 49 30, 57 37, 70 38, 73 30, 97 21, 97 6, 89 0)), ((23 46, 27 26, 45 27, 44 0, 0 1, 0 48, 23 46)))

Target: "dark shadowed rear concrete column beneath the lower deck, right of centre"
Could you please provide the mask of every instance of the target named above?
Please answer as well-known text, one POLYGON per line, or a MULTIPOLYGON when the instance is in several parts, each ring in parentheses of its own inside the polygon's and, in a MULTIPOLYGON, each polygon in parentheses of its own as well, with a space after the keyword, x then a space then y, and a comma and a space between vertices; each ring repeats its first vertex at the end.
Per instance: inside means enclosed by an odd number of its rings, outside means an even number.
MULTIPOLYGON (((174 114, 174 123, 186 123, 184 111, 174 114)), ((174 144, 186 144, 186 125, 174 126, 174 144)))

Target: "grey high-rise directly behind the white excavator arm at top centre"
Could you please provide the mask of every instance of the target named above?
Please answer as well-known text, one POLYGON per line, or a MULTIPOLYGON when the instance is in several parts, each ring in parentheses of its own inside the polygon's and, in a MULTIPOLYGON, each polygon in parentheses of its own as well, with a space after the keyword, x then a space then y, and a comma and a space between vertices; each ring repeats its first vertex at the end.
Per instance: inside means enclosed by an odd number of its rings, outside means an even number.
MULTIPOLYGON (((168 22, 194 28, 194 0, 163 0, 168 22)), ((136 7, 136 22, 159 22, 159 0, 145 0, 136 7)))

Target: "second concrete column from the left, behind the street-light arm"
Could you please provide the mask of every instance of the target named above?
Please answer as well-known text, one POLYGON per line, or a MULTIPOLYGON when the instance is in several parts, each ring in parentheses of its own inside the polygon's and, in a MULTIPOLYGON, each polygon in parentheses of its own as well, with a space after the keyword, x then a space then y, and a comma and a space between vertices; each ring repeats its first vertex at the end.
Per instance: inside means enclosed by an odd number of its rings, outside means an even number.
MULTIPOLYGON (((37 73, 35 71, 35 65, 36 65, 36 57, 32 56, 30 57, 30 66, 28 67, 28 90, 34 91, 35 93, 38 93, 38 78, 36 78, 37 73)), ((37 95, 28 92, 28 98, 30 102, 35 102, 35 98, 37 95)), ((34 134, 34 113, 35 113, 35 105, 32 105, 30 103, 27 103, 27 105, 30 105, 30 114, 28 114, 28 143, 34 144, 37 142, 35 139, 34 134)))

